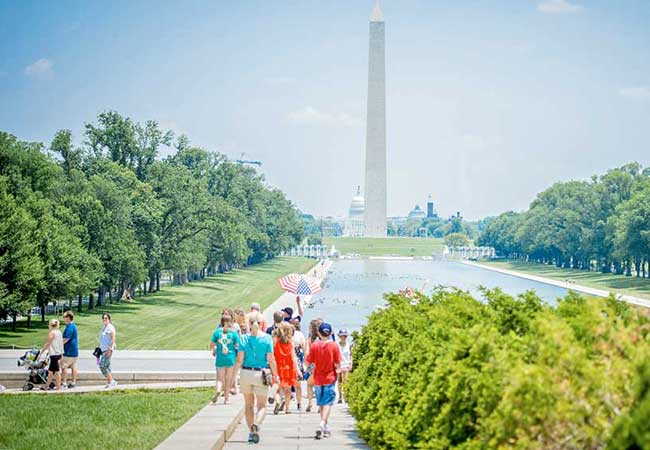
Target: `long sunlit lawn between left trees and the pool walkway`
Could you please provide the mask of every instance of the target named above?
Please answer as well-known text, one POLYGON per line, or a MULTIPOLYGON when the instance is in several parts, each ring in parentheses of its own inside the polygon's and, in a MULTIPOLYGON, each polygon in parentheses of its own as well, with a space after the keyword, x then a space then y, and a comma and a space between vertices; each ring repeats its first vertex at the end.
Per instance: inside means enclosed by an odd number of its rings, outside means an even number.
MULTIPOLYGON (((92 313, 75 312, 79 346, 95 348, 102 327, 101 313, 109 311, 117 331, 118 349, 207 349, 222 308, 239 306, 248 311, 252 302, 265 308, 282 293, 278 278, 306 272, 313 265, 314 260, 306 258, 277 258, 184 286, 165 287, 158 293, 137 297, 132 303, 117 303, 92 313)), ((47 323, 34 319, 31 329, 25 327, 26 322, 19 322, 15 333, 11 324, 0 327, 0 347, 43 345, 47 323)))

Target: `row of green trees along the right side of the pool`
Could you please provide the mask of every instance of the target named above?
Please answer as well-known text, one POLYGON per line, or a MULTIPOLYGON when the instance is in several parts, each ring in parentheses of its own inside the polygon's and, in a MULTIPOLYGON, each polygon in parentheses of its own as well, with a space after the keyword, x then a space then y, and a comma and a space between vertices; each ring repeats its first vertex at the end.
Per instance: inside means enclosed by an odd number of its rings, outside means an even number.
POLYGON ((508 258, 648 277, 650 168, 630 163, 555 183, 527 211, 489 220, 479 243, 508 258))

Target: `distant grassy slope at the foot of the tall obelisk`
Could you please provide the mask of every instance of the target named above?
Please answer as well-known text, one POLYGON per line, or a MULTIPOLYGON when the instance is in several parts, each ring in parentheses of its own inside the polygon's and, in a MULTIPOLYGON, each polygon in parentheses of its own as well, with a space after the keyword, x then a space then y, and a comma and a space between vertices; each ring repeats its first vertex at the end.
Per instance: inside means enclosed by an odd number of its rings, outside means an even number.
POLYGON ((341 255, 357 253, 361 256, 431 256, 441 253, 442 239, 431 238, 324 238, 324 243, 334 245, 341 255))

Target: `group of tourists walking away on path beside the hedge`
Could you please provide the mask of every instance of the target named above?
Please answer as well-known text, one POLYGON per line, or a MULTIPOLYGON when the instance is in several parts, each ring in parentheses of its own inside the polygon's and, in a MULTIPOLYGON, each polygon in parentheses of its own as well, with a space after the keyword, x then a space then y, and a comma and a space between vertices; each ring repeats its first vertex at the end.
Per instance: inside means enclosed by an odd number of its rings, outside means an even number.
POLYGON ((253 303, 247 313, 242 309, 224 309, 212 333, 210 348, 215 356, 217 382, 212 398, 221 396, 228 404, 239 390, 244 396, 249 443, 260 440, 267 402, 274 404, 273 413, 302 411, 303 387, 307 406, 312 410, 314 397, 320 414, 316 439, 330 435, 328 419, 337 398, 343 402, 341 387, 352 369, 352 352, 348 331, 340 329, 338 341, 329 323, 322 319, 309 322, 308 334, 302 331, 303 309, 296 297, 297 314, 291 307, 273 313, 273 324, 267 327, 260 305, 253 303), (306 386, 303 386, 303 383, 306 386))

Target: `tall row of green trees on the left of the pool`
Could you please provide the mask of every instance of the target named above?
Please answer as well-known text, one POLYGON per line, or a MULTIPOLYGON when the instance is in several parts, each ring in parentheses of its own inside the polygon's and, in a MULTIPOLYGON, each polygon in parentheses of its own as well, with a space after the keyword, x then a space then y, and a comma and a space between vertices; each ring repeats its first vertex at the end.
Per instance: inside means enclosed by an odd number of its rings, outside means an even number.
MULTIPOLYGON (((294 205, 251 167, 117 112, 49 147, 0 132, 0 318, 160 289, 273 258, 299 243, 294 205), (161 157, 161 150, 172 154, 161 157)), ((27 314, 28 321, 31 319, 27 314)))

